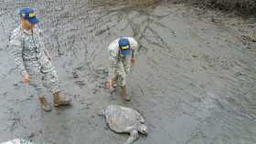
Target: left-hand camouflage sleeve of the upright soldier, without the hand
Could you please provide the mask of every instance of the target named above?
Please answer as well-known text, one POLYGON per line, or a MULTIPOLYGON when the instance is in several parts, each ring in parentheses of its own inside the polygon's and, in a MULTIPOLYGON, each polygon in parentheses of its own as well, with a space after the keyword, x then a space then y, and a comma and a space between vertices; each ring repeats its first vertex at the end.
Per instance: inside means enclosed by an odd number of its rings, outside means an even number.
POLYGON ((20 69, 22 76, 27 74, 27 70, 24 66, 23 57, 22 57, 22 42, 21 37, 15 32, 10 37, 10 54, 16 62, 16 66, 20 69))

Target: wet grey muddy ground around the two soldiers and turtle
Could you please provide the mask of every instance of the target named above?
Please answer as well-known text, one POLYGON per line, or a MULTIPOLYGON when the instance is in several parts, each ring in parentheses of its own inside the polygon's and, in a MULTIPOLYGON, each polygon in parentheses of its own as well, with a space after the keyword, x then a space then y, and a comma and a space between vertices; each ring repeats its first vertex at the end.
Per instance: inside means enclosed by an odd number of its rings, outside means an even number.
MULTIPOLYGON (((166 1, 0 1, 0 141, 121 144, 97 111, 138 109, 149 135, 137 144, 256 143, 256 18, 166 1), (37 7, 45 43, 71 108, 43 112, 8 56, 18 8, 37 7), (119 36, 140 43, 129 76, 132 101, 105 87, 107 46, 119 36)), ((50 94, 48 98, 51 98, 50 94)))

